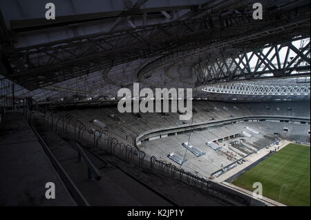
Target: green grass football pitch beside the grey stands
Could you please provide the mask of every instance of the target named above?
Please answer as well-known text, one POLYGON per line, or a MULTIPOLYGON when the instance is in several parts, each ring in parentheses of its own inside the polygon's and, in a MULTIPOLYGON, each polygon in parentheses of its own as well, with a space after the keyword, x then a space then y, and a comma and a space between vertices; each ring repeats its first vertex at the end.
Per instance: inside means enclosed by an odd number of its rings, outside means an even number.
POLYGON ((253 191, 260 182, 263 196, 287 206, 310 206, 310 147, 290 143, 232 181, 253 191))

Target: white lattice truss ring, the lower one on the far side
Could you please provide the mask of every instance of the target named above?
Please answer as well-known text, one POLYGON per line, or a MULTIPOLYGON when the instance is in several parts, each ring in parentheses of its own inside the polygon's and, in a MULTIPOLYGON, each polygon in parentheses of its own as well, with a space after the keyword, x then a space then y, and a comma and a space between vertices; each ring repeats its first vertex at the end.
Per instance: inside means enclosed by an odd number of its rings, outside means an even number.
POLYGON ((299 79, 278 79, 241 83, 222 83, 202 88, 204 92, 223 94, 254 95, 310 95, 310 78, 308 82, 299 79))

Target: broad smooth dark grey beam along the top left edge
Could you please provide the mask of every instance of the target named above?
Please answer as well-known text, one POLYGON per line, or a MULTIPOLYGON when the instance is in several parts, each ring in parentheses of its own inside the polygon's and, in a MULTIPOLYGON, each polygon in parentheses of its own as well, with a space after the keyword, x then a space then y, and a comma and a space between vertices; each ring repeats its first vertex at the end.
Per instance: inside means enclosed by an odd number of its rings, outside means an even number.
MULTIPOLYGON (((54 0, 55 7, 62 7, 57 10, 57 19, 46 21, 44 18, 44 1, 28 0, 23 3, 19 0, 2 0, 0 9, 3 11, 3 17, 8 23, 8 27, 15 32, 44 29, 47 26, 66 25, 68 23, 86 23, 90 21, 101 21, 102 19, 117 18, 142 13, 159 13, 160 11, 186 10, 198 6, 201 1, 194 3, 191 1, 180 0, 155 0, 153 1, 72 1, 72 0, 54 0), (18 6, 18 7, 17 7, 18 6), (35 8, 33 8, 35 6, 35 8), (41 10, 42 9, 42 10, 41 10), (10 13, 15 11, 15 13, 10 13), (25 14, 26 12, 26 14, 25 14)), ((225 0, 223 0, 225 1, 225 0)))

